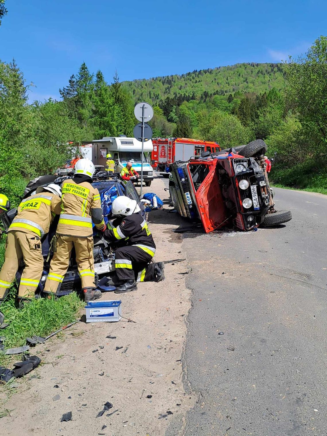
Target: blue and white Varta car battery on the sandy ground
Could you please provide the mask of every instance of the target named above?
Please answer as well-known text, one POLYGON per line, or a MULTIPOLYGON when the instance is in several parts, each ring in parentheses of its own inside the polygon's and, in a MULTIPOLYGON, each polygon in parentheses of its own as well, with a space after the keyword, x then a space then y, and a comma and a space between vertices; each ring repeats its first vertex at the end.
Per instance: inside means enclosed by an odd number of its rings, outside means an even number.
POLYGON ((90 301, 85 306, 86 322, 115 322, 122 319, 120 315, 121 300, 90 301))

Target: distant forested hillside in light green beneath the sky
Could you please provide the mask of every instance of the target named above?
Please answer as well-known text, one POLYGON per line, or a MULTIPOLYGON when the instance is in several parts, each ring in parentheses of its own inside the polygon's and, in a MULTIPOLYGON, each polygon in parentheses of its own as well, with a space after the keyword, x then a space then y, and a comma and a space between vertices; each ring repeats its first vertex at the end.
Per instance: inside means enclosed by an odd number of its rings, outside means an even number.
MULTIPOLYGON (((174 68, 174 64, 171 64, 174 68)), ((228 67, 194 70, 182 75, 137 79, 123 85, 138 101, 157 105, 166 97, 182 95, 186 99, 207 99, 213 95, 240 92, 267 92, 283 89, 285 80, 282 64, 236 64, 228 67)))

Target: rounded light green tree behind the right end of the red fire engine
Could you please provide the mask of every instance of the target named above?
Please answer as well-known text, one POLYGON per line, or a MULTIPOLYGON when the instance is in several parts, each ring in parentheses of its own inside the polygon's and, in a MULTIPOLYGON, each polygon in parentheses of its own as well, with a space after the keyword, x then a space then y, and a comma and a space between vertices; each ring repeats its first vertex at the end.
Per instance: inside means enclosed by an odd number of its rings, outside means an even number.
POLYGON ((201 139, 216 141, 221 148, 228 148, 249 143, 252 132, 242 125, 235 115, 214 110, 199 125, 201 139))

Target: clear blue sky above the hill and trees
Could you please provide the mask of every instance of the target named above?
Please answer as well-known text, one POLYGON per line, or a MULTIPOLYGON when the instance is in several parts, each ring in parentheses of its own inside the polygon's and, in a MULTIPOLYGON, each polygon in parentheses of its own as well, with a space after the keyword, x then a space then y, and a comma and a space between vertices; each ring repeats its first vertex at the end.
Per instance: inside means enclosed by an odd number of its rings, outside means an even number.
POLYGON ((83 61, 112 81, 297 56, 327 35, 322 0, 6 0, 0 59, 15 58, 30 99, 59 98, 83 61))

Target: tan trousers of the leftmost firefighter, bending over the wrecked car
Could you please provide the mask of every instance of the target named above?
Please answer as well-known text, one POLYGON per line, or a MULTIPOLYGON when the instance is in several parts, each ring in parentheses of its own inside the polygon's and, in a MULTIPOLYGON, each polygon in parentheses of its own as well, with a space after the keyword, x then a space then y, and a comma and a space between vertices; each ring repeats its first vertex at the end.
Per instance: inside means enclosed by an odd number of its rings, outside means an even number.
POLYGON ((0 271, 0 298, 7 295, 22 260, 25 268, 20 278, 18 296, 33 298, 43 272, 41 240, 34 233, 11 230, 7 234, 6 252, 0 271))

